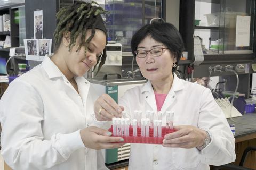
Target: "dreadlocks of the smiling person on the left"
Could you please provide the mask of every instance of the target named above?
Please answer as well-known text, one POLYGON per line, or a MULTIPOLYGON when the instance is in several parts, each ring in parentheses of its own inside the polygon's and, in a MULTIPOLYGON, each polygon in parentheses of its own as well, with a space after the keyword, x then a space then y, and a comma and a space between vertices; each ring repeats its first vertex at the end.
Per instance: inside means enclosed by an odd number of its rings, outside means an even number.
MULTIPOLYGON (((82 34, 81 42, 79 43, 76 52, 81 48, 81 46, 85 47, 85 57, 87 52, 87 45, 90 43, 92 38, 95 35, 95 25, 97 22, 103 22, 100 13, 101 12, 109 12, 104 10, 100 6, 93 6, 92 4, 97 4, 97 2, 91 1, 91 3, 87 3, 84 1, 77 1, 75 4, 70 5, 68 7, 63 7, 56 15, 56 20, 59 20, 57 28, 53 34, 55 38, 55 52, 57 52, 60 47, 63 34, 65 34, 65 38, 67 33, 70 32, 70 43, 69 43, 69 51, 71 50, 71 45, 76 45, 77 37, 82 34), (86 33, 89 29, 92 29, 91 36, 85 41, 86 33)), ((103 30, 102 30, 103 31, 103 30)), ((106 44, 107 44, 107 32, 106 35, 106 44)), ((105 64, 107 57, 106 48, 103 50, 103 54, 101 57, 98 57, 97 64, 100 62, 96 75, 99 73, 101 66, 105 64)), ((96 64, 96 65, 97 65, 96 64)), ((94 66, 93 71, 96 69, 94 66)))

